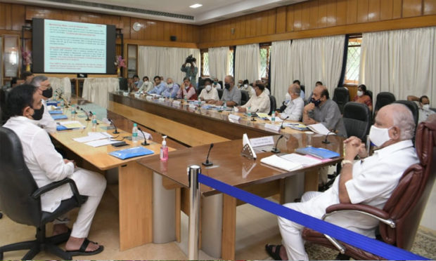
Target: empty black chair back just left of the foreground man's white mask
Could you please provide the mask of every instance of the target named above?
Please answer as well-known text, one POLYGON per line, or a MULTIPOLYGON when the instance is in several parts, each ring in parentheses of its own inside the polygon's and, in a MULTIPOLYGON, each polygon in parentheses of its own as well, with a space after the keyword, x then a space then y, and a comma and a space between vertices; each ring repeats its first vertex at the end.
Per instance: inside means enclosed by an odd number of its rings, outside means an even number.
POLYGON ((348 137, 356 136, 366 141, 366 135, 371 128, 371 112, 368 106, 359 102, 347 102, 342 116, 348 137))

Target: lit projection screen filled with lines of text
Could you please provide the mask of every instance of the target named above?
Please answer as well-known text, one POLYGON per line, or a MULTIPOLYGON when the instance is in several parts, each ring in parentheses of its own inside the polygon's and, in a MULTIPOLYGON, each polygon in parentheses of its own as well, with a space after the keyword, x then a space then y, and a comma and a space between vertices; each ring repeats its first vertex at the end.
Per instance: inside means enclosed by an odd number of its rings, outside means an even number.
POLYGON ((44 20, 44 71, 106 73, 106 26, 44 20))

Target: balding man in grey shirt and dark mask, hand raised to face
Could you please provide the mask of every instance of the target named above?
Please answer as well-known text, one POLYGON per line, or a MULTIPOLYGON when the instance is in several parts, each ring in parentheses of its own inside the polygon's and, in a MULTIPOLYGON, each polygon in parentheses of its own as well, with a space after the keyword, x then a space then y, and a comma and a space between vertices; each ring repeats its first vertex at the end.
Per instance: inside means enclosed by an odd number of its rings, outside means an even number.
POLYGON ((304 107, 303 123, 306 125, 322 123, 328 130, 337 131, 338 135, 347 137, 339 107, 329 98, 326 86, 315 87, 312 100, 304 107))

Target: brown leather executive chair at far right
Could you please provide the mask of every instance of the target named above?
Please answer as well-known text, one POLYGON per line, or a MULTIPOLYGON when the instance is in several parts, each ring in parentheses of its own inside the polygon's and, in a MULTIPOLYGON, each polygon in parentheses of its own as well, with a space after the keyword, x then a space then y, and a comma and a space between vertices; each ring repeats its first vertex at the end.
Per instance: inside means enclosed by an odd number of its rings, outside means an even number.
MULTIPOLYGON (((399 180, 397 188, 387 200, 383 210, 361 204, 336 204, 326 209, 326 215, 342 211, 361 211, 380 220, 380 240, 390 245, 410 250, 418 225, 425 210, 436 173, 436 114, 418 125, 416 129, 416 153, 420 163, 410 166, 399 180)), ((355 260, 382 260, 347 243, 327 239, 323 234, 305 228, 302 237, 306 241, 338 249, 355 260), (333 242, 333 243, 332 243, 333 242), (333 244, 338 243, 338 246, 333 244)))

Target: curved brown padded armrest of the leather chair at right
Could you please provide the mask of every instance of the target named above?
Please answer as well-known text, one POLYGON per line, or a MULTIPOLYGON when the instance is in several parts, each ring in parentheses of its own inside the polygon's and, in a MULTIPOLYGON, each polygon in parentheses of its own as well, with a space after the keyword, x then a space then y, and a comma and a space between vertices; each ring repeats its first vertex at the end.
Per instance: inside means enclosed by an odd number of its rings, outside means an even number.
POLYGON ((385 211, 379 208, 374 208, 373 206, 368 206, 364 204, 340 203, 340 204, 329 206, 328 208, 326 208, 326 214, 323 215, 322 219, 324 220, 326 217, 330 215, 335 215, 337 213, 344 213, 344 212, 361 213, 369 217, 373 217, 376 220, 383 222, 392 228, 395 228, 395 222, 389 218, 389 213, 386 213, 385 211))

